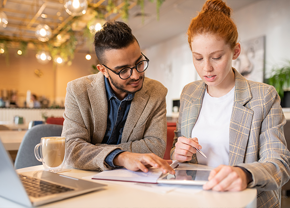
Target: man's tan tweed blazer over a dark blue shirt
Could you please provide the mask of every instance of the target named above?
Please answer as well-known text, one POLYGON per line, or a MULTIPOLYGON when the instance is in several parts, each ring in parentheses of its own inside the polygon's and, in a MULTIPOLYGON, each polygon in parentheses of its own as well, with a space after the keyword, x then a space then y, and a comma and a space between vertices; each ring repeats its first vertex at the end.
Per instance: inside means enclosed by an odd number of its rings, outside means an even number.
POLYGON ((167 89, 160 82, 145 78, 143 88, 132 99, 118 145, 101 144, 108 116, 104 75, 73 80, 66 91, 62 136, 67 141, 67 165, 84 170, 110 170, 104 160, 115 149, 163 157, 167 89))

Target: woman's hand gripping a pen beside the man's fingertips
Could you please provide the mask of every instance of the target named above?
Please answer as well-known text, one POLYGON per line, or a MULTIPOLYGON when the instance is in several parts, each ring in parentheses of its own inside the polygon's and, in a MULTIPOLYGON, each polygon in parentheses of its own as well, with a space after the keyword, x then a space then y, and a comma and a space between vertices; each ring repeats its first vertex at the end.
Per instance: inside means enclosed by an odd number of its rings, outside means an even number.
POLYGON ((196 153, 196 149, 193 147, 197 149, 202 148, 201 145, 198 144, 197 138, 188 139, 186 137, 178 137, 172 159, 180 162, 191 160, 193 154, 196 153))

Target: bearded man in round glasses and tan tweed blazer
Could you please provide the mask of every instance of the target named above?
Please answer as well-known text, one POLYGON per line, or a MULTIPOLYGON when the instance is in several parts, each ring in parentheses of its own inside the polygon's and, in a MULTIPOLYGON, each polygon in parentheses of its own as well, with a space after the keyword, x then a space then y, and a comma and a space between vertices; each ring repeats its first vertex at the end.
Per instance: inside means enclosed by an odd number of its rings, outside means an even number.
POLYGON ((147 172, 146 166, 153 166, 174 174, 170 161, 161 159, 167 89, 145 78, 149 59, 131 29, 108 21, 94 44, 100 73, 67 84, 62 134, 66 164, 100 171, 125 167, 147 172))

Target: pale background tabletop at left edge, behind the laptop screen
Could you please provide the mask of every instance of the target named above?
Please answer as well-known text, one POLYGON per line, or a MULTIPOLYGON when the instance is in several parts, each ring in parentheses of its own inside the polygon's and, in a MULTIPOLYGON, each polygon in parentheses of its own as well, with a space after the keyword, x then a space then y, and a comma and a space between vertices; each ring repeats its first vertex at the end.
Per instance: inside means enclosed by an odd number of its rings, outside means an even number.
POLYGON ((1 130, 0 139, 7 151, 18 150, 27 130, 1 130))

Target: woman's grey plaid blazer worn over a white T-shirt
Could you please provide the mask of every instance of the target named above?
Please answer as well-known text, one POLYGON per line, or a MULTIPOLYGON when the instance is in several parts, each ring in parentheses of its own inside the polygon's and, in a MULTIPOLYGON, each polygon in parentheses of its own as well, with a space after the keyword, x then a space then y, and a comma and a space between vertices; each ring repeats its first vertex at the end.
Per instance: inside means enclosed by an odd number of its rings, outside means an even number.
MULTIPOLYGON (((229 127, 230 166, 242 166, 253 176, 248 188, 258 190, 258 208, 280 207, 281 187, 290 178, 290 152, 280 97, 273 86, 246 80, 236 71, 235 96, 229 127)), ((171 155, 179 136, 190 137, 201 109, 206 84, 194 81, 183 88, 171 155)), ((198 163, 193 154, 192 163, 198 163)))

